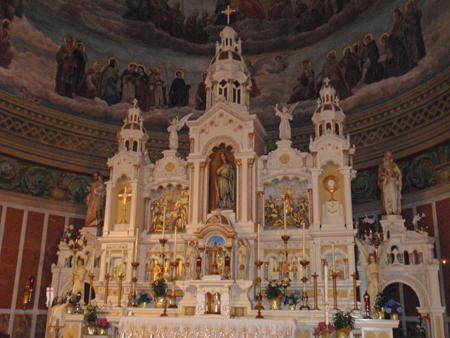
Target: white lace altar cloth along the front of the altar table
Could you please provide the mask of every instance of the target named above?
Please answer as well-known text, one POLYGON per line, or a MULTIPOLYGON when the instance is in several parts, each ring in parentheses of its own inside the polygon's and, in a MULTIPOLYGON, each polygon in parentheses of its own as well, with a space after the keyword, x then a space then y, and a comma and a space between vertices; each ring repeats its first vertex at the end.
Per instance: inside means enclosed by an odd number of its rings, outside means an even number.
POLYGON ((123 338, 292 338, 294 320, 208 317, 124 317, 123 338))

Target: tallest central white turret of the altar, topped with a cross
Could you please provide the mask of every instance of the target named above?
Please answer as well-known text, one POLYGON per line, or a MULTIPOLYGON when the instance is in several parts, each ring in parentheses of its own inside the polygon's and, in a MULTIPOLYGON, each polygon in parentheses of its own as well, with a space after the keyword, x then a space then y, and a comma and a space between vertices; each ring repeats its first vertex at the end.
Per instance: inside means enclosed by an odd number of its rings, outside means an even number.
MULTIPOLYGON (((228 14, 232 12, 228 9, 228 14)), ((251 78, 241 54, 241 39, 230 26, 222 30, 220 38, 205 79, 206 109, 225 101, 237 111, 248 114, 251 78)))

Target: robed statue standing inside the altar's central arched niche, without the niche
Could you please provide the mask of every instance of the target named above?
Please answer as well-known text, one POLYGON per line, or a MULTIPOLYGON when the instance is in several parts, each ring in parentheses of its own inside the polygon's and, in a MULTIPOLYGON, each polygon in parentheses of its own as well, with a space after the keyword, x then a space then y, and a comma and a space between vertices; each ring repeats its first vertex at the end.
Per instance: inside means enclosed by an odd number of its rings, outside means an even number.
POLYGON ((235 172, 224 151, 219 153, 221 164, 216 170, 215 201, 221 209, 234 208, 235 172))

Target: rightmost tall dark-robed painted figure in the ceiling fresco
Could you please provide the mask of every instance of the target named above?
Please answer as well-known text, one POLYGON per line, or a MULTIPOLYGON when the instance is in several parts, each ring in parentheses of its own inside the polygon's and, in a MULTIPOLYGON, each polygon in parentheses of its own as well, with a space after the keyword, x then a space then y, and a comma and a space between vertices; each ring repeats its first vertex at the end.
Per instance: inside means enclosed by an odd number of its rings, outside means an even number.
POLYGON ((405 45, 409 59, 415 63, 422 60, 425 55, 425 43, 423 42, 422 11, 417 9, 414 0, 408 0, 405 5, 405 45))

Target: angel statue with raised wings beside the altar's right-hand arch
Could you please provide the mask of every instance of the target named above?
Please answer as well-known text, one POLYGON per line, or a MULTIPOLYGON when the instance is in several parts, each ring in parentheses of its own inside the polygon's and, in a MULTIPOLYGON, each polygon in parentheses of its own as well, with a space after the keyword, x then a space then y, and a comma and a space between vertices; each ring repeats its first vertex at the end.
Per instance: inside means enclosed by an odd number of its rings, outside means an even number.
POLYGON ((386 249, 389 246, 389 240, 384 242, 378 248, 378 250, 376 250, 378 257, 376 257, 376 253, 373 252, 367 254, 364 245, 358 239, 355 239, 355 242, 356 245, 358 246, 360 254, 359 264, 366 271, 366 279, 368 284, 367 292, 369 293, 370 301, 373 304, 377 293, 380 291, 380 289, 383 287, 385 283, 381 269, 384 266, 386 266, 387 261, 386 249))

